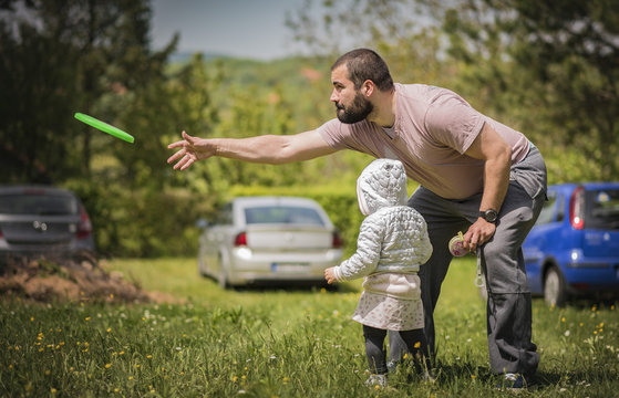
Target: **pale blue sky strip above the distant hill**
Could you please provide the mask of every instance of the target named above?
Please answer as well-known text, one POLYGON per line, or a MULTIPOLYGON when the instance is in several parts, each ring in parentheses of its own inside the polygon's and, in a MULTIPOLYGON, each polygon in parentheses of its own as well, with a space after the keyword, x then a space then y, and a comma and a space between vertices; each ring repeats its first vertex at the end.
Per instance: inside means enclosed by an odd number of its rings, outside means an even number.
POLYGON ((175 32, 178 52, 217 53, 274 60, 298 53, 286 27, 303 0, 153 0, 152 46, 159 50, 175 32))

